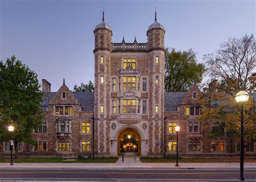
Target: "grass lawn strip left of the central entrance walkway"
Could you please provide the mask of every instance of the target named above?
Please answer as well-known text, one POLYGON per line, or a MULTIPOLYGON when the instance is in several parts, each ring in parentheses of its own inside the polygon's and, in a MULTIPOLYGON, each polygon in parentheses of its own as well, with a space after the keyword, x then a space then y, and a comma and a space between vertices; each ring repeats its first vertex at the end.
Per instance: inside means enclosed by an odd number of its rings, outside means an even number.
MULTIPOLYGON (((62 158, 18 158, 14 163, 116 163, 118 157, 78 159, 63 161, 62 158)), ((10 163, 10 159, 0 158, 0 163, 10 163)))

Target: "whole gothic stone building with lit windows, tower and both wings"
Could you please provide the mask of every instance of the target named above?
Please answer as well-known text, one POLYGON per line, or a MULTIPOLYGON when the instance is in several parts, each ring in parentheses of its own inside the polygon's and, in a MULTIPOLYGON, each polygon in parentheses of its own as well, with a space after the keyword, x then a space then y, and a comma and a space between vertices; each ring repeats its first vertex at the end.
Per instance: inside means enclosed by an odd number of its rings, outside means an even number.
MULTIPOLYGON (((103 20, 95 33, 95 93, 71 92, 65 85, 51 92, 43 80, 44 119, 33 133, 35 146, 19 144, 22 154, 60 156, 77 152, 82 156, 118 156, 137 151, 140 156, 176 153, 176 131, 180 125, 179 152, 184 157, 239 155, 239 142, 230 138, 207 138, 214 123, 203 129, 200 90, 164 92, 164 27, 155 21, 146 32, 147 43, 112 43, 112 30, 103 20), (94 151, 95 150, 95 151, 94 151), (93 152, 94 151, 94 152, 93 152)), ((254 95, 255 96, 255 95, 254 95)), ((255 143, 246 155, 255 155, 255 143)), ((9 151, 9 142, 0 145, 9 151)))

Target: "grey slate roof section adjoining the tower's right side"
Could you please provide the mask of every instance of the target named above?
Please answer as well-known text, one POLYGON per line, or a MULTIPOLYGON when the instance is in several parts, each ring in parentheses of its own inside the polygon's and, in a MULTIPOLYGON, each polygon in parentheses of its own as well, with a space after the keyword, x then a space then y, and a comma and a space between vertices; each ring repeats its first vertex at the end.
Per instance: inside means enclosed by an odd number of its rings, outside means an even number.
POLYGON ((178 106, 179 101, 187 92, 165 92, 164 93, 164 105, 165 106, 178 106))

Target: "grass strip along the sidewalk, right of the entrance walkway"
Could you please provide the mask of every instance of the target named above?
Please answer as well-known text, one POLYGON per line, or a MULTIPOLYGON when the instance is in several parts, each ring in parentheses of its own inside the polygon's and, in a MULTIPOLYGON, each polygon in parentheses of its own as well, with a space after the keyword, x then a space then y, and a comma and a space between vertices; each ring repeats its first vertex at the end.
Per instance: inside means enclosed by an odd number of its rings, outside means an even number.
MULTIPOLYGON (((158 157, 140 157, 143 163, 176 163, 176 159, 173 158, 158 158, 158 157)), ((256 159, 244 159, 245 163, 256 163, 256 159)), ((193 159, 193 158, 181 158, 179 163, 240 163, 240 159, 193 159)))

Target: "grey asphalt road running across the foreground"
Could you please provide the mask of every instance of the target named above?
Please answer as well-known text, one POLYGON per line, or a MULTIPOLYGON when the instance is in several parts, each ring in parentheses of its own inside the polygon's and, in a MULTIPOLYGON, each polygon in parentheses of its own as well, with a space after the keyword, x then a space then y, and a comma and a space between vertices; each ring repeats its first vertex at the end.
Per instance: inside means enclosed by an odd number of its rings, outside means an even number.
MULTIPOLYGON (((256 181, 256 170, 245 179, 256 181)), ((0 169, 2 180, 43 181, 237 181, 239 169, 0 169)))

